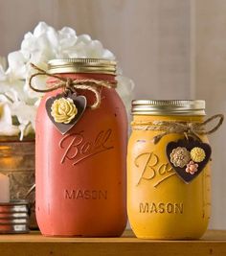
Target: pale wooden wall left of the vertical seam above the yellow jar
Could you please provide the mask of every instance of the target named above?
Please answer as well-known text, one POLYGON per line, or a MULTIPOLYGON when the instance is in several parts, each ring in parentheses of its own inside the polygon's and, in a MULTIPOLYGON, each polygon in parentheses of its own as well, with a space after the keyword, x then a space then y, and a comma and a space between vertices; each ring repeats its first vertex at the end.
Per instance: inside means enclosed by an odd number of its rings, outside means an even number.
POLYGON ((0 55, 19 49, 38 21, 70 26, 116 55, 136 98, 188 99, 190 19, 188 0, 0 0, 0 55))

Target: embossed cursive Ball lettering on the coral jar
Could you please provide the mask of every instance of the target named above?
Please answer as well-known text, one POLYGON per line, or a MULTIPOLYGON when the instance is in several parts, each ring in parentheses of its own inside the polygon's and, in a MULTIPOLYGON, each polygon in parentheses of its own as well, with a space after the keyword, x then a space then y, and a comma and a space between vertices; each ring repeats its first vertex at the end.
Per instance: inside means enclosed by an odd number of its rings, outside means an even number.
POLYGON ((85 139, 83 131, 65 135, 59 142, 59 148, 64 150, 60 163, 72 160, 73 165, 102 151, 113 149, 111 141, 112 129, 102 130, 93 141, 85 139))

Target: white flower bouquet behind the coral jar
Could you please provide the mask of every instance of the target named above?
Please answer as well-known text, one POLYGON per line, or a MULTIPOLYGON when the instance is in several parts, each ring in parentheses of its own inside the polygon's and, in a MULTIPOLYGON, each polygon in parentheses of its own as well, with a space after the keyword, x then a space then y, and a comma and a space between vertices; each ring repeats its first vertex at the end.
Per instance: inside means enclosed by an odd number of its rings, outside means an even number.
MULTIPOLYGON (((107 58, 114 55, 102 47, 98 40, 89 35, 77 35, 64 27, 56 31, 53 27, 40 22, 34 33, 27 33, 18 51, 6 58, 0 58, 0 136, 18 136, 20 140, 34 137, 34 120, 42 94, 29 88, 29 78, 33 73, 30 63, 47 70, 47 63, 53 58, 107 58)), ((128 109, 133 90, 133 81, 117 76, 118 93, 128 109)), ((45 87, 45 79, 35 80, 35 86, 45 87)))

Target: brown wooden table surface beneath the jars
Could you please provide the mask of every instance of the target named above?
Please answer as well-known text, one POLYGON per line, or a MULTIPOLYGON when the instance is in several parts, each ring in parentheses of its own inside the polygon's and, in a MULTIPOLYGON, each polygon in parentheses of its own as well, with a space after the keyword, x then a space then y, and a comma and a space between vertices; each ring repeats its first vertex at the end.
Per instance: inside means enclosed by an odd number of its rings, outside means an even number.
POLYGON ((151 241, 135 238, 47 238, 39 232, 0 235, 0 256, 226 256, 226 230, 209 230, 198 241, 151 241))

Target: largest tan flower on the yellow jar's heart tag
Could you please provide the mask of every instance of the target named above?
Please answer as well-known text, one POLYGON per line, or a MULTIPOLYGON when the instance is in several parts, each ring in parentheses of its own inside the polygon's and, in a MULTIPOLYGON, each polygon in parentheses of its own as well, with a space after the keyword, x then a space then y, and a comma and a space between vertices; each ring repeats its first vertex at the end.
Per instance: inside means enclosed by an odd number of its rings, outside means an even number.
POLYGON ((183 168, 189 163, 190 160, 190 151, 188 151, 186 148, 177 147, 176 149, 173 149, 170 153, 170 162, 175 167, 183 168))

